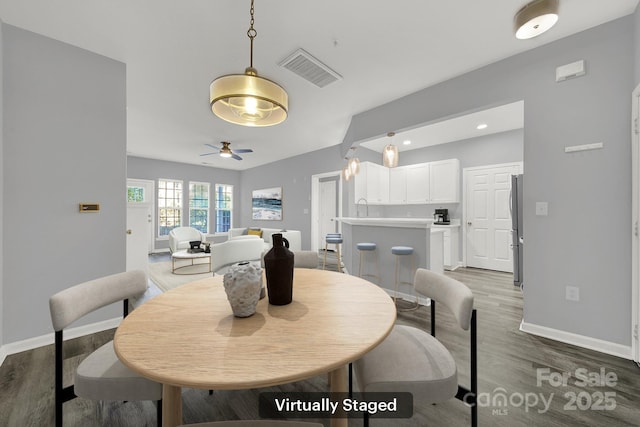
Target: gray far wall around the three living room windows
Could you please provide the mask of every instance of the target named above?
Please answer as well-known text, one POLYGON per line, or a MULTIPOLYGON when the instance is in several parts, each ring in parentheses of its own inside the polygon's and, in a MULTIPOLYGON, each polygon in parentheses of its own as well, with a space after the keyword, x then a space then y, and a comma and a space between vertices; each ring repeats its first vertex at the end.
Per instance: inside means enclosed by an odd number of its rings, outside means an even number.
MULTIPOLYGON (((209 226, 211 233, 215 230, 215 211, 213 191, 216 184, 233 185, 234 192, 236 193, 236 199, 233 206, 233 225, 239 226, 240 221, 240 197, 238 192, 240 191, 240 172, 211 168, 206 166, 188 165, 184 163, 167 162, 164 160, 152 160, 144 159, 141 157, 127 157, 127 177, 134 179, 147 179, 155 182, 155 188, 158 188, 158 179, 176 179, 181 180, 184 191, 182 205, 184 206, 184 222, 183 225, 188 225, 189 222, 189 181, 208 182, 211 184, 211 209, 209 210, 209 226)), ((158 206, 156 204, 156 230, 158 226, 158 206)), ((167 238, 158 239, 156 231, 155 249, 161 250, 169 247, 169 241, 167 238)))

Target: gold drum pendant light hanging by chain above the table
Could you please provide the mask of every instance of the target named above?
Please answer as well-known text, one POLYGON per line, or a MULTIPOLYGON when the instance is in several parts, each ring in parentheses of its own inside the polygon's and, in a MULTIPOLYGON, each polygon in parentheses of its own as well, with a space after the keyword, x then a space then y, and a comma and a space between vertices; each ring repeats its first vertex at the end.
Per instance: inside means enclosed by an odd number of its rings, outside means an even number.
POLYGON ((253 68, 254 8, 251 0, 251 20, 247 36, 251 41, 249 67, 244 74, 218 77, 209 87, 211 111, 230 123, 242 126, 272 126, 287 118, 289 97, 277 83, 259 77, 253 68))

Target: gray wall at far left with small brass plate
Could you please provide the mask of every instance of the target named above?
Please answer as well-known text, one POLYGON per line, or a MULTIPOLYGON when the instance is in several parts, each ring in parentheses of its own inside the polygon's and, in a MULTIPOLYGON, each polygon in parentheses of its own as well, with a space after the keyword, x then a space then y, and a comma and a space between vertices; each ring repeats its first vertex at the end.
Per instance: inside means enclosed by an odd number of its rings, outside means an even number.
MULTIPOLYGON (((3 342, 52 332, 49 296, 125 269, 125 66, 2 25, 3 342), (100 203, 79 213, 80 202, 100 203)), ((82 323, 113 318, 111 306, 82 323)))

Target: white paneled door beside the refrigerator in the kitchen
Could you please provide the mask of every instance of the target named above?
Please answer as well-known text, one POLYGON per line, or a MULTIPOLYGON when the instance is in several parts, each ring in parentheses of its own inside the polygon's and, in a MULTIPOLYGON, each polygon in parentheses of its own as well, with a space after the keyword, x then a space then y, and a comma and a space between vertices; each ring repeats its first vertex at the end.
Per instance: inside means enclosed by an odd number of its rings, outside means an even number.
POLYGON ((465 169, 466 265, 513 272, 511 175, 520 164, 465 169))

